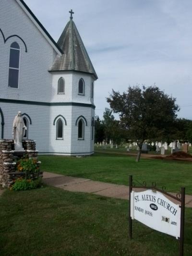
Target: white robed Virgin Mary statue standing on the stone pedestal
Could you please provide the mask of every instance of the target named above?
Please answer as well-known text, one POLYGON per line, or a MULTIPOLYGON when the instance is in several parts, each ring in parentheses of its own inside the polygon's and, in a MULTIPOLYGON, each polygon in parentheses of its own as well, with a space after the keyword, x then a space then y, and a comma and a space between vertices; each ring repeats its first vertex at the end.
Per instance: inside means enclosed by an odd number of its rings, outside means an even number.
POLYGON ((24 120, 22 118, 21 111, 17 113, 12 125, 12 135, 14 139, 14 147, 15 150, 24 150, 22 146, 22 139, 25 134, 26 126, 24 124, 24 120))

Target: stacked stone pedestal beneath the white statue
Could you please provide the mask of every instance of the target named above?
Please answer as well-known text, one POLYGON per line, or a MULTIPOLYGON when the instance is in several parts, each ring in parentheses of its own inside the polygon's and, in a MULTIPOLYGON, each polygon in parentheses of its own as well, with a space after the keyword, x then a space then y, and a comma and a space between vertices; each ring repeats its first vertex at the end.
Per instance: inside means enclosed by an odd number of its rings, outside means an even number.
MULTIPOLYGON (((38 150, 36 150, 36 142, 34 140, 24 140, 22 142, 24 150, 14 150, 14 142, 9 139, 0 140, 0 185, 2 187, 11 187, 14 181, 18 178, 24 178, 25 172, 15 170, 16 161, 20 158, 38 158, 38 150)), ((37 161, 37 165, 40 162, 37 161)), ((43 177, 43 172, 30 173, 30 179, 43 177)))

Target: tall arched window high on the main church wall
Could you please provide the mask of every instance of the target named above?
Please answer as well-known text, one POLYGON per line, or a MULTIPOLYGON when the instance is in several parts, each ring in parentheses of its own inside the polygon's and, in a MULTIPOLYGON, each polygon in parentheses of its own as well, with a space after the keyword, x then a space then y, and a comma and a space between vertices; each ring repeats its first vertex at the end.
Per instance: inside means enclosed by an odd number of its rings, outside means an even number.
POLYGON ((12 88, 18 88, 19 86, 19 59, 20 59, 20 47, 18 43, 14 42, 10 47, 10 59, 9 59, 9 82, 8 86, 12 88))

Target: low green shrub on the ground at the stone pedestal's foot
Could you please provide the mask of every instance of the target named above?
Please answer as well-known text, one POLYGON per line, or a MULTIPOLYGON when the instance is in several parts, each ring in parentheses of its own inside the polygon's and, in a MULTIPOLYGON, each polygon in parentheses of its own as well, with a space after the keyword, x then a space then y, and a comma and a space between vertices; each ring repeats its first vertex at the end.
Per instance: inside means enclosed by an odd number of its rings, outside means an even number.
POLYGON ((26 179, 19 178, 12 185, 11 189, 15 191, 35 189, 37 187, 40 187, 41 184, 42 184, 41 178, 36 178, 35 180, 26 180, 26 179))

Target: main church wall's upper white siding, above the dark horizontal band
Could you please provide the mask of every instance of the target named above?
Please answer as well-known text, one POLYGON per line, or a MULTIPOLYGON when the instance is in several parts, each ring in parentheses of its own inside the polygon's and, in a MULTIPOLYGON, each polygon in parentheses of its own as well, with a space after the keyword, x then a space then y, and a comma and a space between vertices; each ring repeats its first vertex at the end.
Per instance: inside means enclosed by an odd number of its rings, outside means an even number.
POLYGON ((52 77, 48 69, 56 56, 48 40, 36 28, 15 0, 0 0, 0 28, 7 38, 4 44, 0 33, 0 98, 50 101, 52 77), (9 55, 12 42, 21 49, 19 88, 8 87, 9 55))

